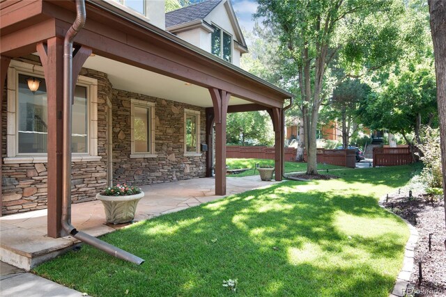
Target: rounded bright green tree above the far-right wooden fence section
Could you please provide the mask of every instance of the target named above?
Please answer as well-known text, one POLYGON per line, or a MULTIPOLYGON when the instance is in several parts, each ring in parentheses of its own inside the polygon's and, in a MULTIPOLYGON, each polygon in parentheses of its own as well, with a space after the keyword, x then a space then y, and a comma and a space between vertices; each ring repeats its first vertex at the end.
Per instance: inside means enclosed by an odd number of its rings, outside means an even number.
POLYGON ((380 90, 362 99, 358 113, 364 125, 399 133, 411 146, 420 143, 422 125, 437 127, 435 74, 430 59, 426 63, 391 74, 380 90))

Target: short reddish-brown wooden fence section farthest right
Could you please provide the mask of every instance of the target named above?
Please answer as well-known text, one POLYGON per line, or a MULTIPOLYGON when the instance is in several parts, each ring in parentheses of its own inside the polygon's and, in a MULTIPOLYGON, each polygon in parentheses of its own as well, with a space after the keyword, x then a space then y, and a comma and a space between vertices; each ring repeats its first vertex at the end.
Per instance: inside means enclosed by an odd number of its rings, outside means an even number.
POLYGON ((408 147, 374 147, 374 167, 413 163, 408 147))

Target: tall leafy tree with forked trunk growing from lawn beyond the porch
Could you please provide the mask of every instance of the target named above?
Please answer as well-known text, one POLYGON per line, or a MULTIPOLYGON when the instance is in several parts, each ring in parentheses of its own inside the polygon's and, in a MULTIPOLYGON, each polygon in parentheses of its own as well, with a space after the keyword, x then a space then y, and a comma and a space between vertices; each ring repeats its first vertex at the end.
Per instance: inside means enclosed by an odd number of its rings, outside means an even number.
POLYGON ((377 69, 392 61, 397 46, 390 40, 398 29, 391 15, 400 8, 387 0, 258 2, 256 15, 265 17, 265 24, 277 33, 282 55, 293 66, 287 67, 289 77, 298 79, 307 174, 316 175, 318 113, 336 84, 325 79, 328 65, 339 58, 339 63, 351 66, 346 69, 358 72, 360 66, 377 69))

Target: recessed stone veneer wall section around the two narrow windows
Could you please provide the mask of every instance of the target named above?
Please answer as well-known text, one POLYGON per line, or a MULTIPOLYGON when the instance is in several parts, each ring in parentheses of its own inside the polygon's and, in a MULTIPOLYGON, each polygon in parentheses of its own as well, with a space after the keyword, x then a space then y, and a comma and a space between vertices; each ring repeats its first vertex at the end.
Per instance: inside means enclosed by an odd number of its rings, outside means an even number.
POLYGON ((113 90, 113 182, 135 185, 171 182, 206 175, 206 152, 184 155, 184 109, 200 111, 200 141, 206 135, 205 109, 124 90, 113 90), (155 154, 130 158, 131 99, 155 102, 155 154))

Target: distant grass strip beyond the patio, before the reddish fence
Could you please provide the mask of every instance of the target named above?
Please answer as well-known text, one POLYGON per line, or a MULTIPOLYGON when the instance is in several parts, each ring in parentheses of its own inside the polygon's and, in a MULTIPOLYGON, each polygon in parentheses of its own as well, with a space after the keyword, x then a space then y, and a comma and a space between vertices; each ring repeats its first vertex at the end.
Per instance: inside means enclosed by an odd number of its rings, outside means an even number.
MULTIPOLYGON (((274 167, 274 160, 268 159, 226 159, 226 166, 229 166, 229 169, 240 169, 240 168, 251 168, 245 172, 241 172, 235 175, 228 175, 229 177, 246 177, 249 175, 259 175, 259 171, 256 170, 254 173, 254 167, 256 163, 259 163, 259 166, 270 166, 274 167)), ((319 170, 326 169, 344 169, 345 167, 335 166, 330 164, 318 164, 319 170)), ((298 163, 298 162, 285 162, 285 172, 298 172, 298 171, 306 171, 307 163, 298 163)))

